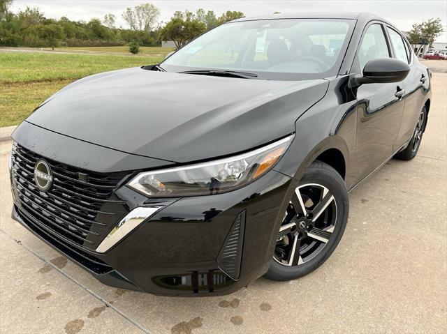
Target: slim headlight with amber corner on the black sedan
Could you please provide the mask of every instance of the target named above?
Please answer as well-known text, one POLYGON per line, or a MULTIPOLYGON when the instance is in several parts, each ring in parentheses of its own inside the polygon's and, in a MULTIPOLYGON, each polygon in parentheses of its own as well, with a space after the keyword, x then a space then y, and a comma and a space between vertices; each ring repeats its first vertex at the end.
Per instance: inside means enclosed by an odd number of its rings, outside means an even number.
POLYGON ((234 190, 272 169, 293 137, 290 135, 261 149, 231 158, 142 172, 128 185, 150 197, 214 195, 234 190))

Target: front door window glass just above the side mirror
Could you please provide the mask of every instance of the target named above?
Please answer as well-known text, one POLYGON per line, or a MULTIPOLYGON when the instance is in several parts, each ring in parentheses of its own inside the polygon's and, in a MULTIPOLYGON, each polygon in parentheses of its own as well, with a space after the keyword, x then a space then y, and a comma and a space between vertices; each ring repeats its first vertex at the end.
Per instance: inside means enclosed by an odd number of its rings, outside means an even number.
POLYGON ((366 63, 372 59, 389 57, 390 53, 381 24, 372 24, 363 36, 360 50, 358 50, 360 69, 363 70, 366 63))

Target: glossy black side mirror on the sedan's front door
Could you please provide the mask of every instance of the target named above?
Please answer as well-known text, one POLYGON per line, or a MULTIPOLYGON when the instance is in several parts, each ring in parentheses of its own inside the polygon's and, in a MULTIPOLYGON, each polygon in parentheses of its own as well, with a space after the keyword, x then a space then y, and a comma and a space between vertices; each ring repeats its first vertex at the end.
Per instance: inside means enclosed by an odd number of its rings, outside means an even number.
POLYGON ((378 58, 367 62, 363 68, 363 76, 355 77, 355 82, 360 84, 388 84, 401 82, 410 71, 410 66, 399 59, 378 58))

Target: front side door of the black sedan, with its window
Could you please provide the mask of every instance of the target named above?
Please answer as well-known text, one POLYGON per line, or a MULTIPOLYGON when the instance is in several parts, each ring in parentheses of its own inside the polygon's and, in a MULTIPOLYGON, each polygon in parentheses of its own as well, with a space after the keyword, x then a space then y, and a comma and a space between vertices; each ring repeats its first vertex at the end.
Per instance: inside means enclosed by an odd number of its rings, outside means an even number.
MULTIPOLYGON (((393 56, 385 29, 381 22, 372 22, 365 28, 351 73, 360 75, 368 61, 393 56)), ((403 82, 358 87, 356 161, 353 163, 358 179, 393 155, 404 112, 403 95, 403 82)))

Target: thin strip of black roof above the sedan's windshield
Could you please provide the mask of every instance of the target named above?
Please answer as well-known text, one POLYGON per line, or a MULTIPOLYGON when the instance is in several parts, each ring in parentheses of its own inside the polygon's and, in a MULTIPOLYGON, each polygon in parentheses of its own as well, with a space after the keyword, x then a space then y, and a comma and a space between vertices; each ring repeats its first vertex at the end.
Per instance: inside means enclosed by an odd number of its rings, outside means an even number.
POLYGON ((379 20, 390 23, 382 17, 372 13, 356 13, 356 12, 314 12, 314 13, 278 13, 269 15, 259 15, 254 17, 242 17, 241 19, 233 20, 231 22, 252 21, 252 20, 273 20, 273 19, 344 19, 344 20, 364 20, 365 22, 371 20, 379 20))

